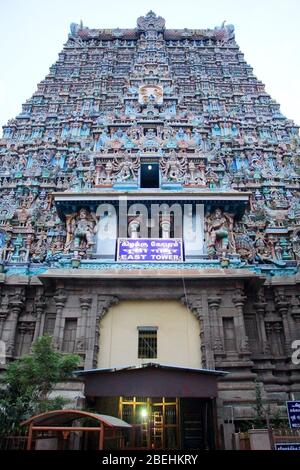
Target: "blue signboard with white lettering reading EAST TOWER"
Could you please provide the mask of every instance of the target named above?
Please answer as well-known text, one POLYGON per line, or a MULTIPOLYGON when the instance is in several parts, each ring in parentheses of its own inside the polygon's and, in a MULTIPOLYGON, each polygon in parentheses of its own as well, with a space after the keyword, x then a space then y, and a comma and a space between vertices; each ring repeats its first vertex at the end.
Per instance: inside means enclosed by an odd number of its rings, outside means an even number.
POLYGON ((117 261, 177 263, 183 261, 181 238, 119 238, 117 261))

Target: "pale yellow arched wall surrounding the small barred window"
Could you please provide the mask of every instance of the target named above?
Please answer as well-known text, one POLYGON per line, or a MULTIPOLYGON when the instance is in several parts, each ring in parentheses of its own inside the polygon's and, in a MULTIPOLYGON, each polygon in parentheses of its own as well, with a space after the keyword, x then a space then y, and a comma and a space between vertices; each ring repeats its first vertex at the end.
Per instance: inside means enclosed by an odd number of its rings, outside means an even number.
POLYGON ((159 362, 201 367, 200 326, 176 300, 124 300, 100 323, 98 367, 159 362), (156 326, 157 359, 138 359, 138 326, 156 326))

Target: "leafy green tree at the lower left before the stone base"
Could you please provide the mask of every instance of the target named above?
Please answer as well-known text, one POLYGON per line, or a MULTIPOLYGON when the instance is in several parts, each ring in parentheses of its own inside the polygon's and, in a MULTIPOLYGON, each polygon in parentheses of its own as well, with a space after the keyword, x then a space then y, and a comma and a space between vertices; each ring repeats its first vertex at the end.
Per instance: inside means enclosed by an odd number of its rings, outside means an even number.
POLYGON ((80 357, 57 352, 52 337, 40 337, 32 346, 32 354, 8 365, 1 376, 0 433, 11 434, 21 421, 51 409, 61 409, 67 401, 50 398, 58 382, 62 382, 78 367, 80 357))

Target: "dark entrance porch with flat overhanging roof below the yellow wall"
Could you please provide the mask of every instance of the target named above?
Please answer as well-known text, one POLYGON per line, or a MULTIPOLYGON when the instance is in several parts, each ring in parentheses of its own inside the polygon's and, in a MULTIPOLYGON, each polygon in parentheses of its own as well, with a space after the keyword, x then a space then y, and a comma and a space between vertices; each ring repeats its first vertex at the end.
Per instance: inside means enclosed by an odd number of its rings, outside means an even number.
POLYGON ((89 409, 131 426, 125 449, 199 451, 220 447, 217 380, 225 374, 158 363, 78 372, 89 409))

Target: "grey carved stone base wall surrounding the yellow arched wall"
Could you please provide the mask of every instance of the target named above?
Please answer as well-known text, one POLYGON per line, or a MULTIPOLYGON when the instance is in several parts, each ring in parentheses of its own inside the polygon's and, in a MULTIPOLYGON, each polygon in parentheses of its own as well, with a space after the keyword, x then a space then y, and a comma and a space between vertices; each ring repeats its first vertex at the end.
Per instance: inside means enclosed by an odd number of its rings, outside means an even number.
POLYGON ((2 284, 0 332, 7 361, 27 352, 53 315, 55 347, 64 349, 67 320, 77 319, 73 350, 82 357, 82 367, 97 367, 101 319, 112 305, 136 299, 180 300, 195 315, 199 367, 229 372, 219 382, 221 419, 231 415, 232 407, 235 419, 253 415, 255 379, 262 384, 263 398, 274 406, 300 393, 299 366, 291 361, 292 341, 300 338, 300 295, 292 280, 282 285, 275 279, 264 286, 235 279, 186 279, 183 284, 181 279, 56 278, 44 285, 2 284))

